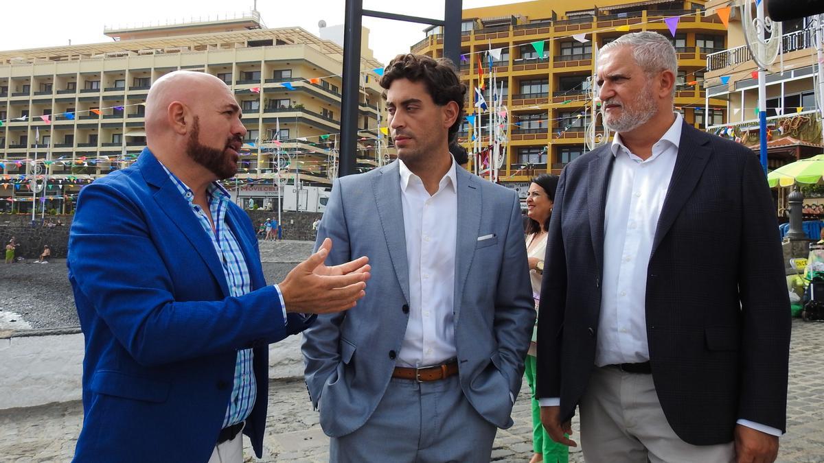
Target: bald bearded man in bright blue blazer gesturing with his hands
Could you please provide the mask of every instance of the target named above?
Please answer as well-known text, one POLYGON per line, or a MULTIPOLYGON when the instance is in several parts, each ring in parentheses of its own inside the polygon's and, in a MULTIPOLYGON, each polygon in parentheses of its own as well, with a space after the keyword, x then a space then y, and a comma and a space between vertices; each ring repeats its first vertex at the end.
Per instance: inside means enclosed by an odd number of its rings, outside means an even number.
POLYGON ((363 297, 366 259, 330 249, 267 285, 255 231, 217 180, 237 171, 241 108, 217 77, 152 85, 148 147, 84 188, 68 244, 83 359, 75 461, 241 463, 261 456, 269 343, 363 297))

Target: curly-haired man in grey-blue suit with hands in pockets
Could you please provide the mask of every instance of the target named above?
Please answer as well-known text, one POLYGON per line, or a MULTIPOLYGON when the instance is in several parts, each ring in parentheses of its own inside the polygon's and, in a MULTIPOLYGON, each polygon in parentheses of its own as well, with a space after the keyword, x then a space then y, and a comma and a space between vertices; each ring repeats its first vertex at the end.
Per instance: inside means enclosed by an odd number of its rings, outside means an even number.
POLYGON ((489 461, 536 315, 517 194, 452 160, 452 63, 399 55, 381 86, 399 160, 336 180, 317 237, 372 290, 304 332, 311 401, 331 461, 489 461))

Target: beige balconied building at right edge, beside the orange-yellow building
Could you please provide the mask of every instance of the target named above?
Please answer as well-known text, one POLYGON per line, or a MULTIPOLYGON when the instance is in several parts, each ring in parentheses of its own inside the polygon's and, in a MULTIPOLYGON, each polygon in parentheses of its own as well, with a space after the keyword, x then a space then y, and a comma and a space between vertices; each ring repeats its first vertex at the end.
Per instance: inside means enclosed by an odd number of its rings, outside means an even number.
MULTIPOLYGON (((709 0, 707 13, 728 7, 728 1, 709 0)), ((766 76, 768 168, 822 153, 822 122, 817 111, 817 54, 811 18, 784 21, 779 58, 766 76)), ((742 12, 733 7, 728 49, 707 56, 707 101, 723 101, 724 117, 714 119, 709 132, 732 138, 758 152, 757 70, 742 26, 742 12)), ((708 103, 717 105, 717 103, 708 103)))

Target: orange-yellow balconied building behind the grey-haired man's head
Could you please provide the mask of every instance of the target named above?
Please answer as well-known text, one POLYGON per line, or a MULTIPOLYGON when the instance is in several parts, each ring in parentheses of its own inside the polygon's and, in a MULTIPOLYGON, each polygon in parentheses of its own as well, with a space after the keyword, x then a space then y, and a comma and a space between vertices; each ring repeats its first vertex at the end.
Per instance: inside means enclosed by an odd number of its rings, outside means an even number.
MULTIPOLYGON (((721 99, 709 99, 706 113, 700 86, 707 55, 727 48, 727 31, 718 16, 705 16, 704 2, 602 0, 596 6, 593 0, 536 0, 465 9, 462 17, 461 54, 466 60, 461 59, 461 78, 471 88, 467 114, 474 110, 471 95, 479 85, 479 57, 486 78, 486 50, 502 49, 493 66, 508 109, 506 157, 499 171, 503 185, 519 188, 541 172, 558 174, 587 151, 584 128, 592 110, 593 44, 601 47, 626 31, 653 30, 672 41, 678 52, 676 105, 688 123, 704 129, 726 115, 721 99), (672 16, 680 16, 674 37, 663 22, 672 16), (574 38, 580 34, 588 41, 574 38), (532 45, 536 41, 544 43, 543 56, 532 45)), ((442 31, 433 27, 426 32, 412 51, 441 57, 442 31)), ((596 126, 602 133, 600 121, 596 126)), ((459 137, 471 147, 468 123, 459 137)))

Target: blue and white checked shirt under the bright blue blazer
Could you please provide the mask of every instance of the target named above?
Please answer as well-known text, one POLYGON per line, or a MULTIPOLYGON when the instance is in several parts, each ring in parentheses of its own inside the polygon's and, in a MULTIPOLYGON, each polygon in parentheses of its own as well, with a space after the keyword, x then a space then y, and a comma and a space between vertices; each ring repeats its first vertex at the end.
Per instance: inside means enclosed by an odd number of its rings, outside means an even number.
MULTIPOLYGON (((246 266, 246 259, 243 257, 241 246, 232 235, 226 219, 226 210, 231 201, 231 197, 226 189, 217 183, 212 183, 206 189, 209 212, 212 213, 214 222, 214 232, 208 222, 208 217, 203 210, 194 203, 194 193, 176 175, 163 166, 169 178, 175 183, 180 194, 189 202, 194 215, 198 217, 200 225, 204 227, 204 232, 212 238, 214 250, 220 257, 223 265, 223 274, 229 286, 229 295, 238 297, 250 292, 252 289, 249 268, 246 266)), ((278 291, 280 293, 280 291, 278 291)), ((283 297, 281 297, 283 306, 283 297)), ((284 315, 284 320, 286 319, 284 315)), ((232 386, 232 396, 229 399, 229 406, 226 409, 226 417, 223 419, 223 428, 240 423, 252 411, 255 406, 255 394, 257 384, 255 383, 255 372, 252 371, 252 349, 245 348, 237 351, 237 361, 235 363, 235 380, 232 386)))

